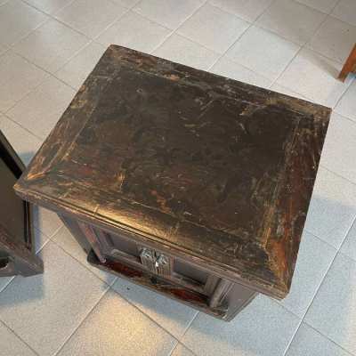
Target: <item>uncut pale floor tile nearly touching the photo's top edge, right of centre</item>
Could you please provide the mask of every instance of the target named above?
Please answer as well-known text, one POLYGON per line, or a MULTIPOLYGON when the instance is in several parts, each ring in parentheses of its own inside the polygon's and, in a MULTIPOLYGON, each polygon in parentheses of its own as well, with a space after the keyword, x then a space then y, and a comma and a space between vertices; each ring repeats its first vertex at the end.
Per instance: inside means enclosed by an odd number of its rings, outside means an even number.
POLYGON ((182 36, 217 53, 224 53, 248 28, 245 20, 205 4, 178 29, 182 36))

